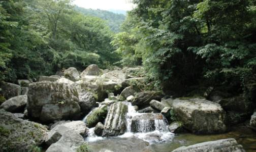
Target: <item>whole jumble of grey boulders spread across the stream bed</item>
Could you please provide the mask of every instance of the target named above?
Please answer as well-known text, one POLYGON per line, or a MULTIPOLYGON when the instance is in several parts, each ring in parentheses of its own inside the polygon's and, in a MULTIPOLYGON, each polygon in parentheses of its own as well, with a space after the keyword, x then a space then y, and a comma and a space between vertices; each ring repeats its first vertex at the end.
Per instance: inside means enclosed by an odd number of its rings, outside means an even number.
MULTIPOLYGON (((155 129, 155 120, 167 120, 169 131, 173 133, 184 130, 198 134, 227 131, 229 102, 211 102, 205 98, 163 98, 163 94, 156 91, 141 91, 138 86, 146 85, 145 79, 133 75, 134 71, 140 70, 116 68, 109 71, 90 65, 82 73, 71 67, 56 75, 40 76, 38 82, 19 80, 19 85, 4 82, 0 93, 7 100, 0 106, 0 137, 5 138, 0 143, 1 147, 13 150, 22 146, 27 150, 31 145, 46 143, 49 146, 47 152, 76 151, 84 143, 89 128, 94 127, 98 136, 122 135, 127 129, 125 116, 128 107, 124 101, 131 102, 138 113, 144 113, 132 118, 133 132, 141 132, 138 127, 141 120, 149 122, 147 131, 155 129), (85 121, 79 121, 85 115, 85 121), (24 119, 50 125, 43 126, 24 119), (20 142, 24 144, 18 145, 20 142)), ((256 113, 251 116, 250 125, 256 128, 256 113)), ((216 151, 219 147, 227 147, 226 151, 243 151, 234 139, 181 147, 174 151, 193 151, 211 144, 216 145, 216 151)))

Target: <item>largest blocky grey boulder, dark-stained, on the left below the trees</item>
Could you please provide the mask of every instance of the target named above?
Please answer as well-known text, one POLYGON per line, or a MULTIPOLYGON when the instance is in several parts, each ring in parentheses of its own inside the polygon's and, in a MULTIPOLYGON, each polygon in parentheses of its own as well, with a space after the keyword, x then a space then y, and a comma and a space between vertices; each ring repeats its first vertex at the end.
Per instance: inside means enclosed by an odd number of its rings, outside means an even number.
POLYGON ((42 122, 79 119, 80 106, 76 88, 65 83, 32 83, 28 90, 28 115, 42 122))

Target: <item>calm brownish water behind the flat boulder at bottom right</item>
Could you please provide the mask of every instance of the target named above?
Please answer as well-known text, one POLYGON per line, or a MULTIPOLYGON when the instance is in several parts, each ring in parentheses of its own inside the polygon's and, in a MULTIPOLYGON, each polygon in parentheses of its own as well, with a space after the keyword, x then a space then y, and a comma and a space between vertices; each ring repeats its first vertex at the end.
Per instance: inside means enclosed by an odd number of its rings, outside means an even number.
POLYGON ((175 134, 173 140, 168 143, 153 143, 147 147, 147 151, 172 151, 180 146, 187 146, 205 141, 213 141, 218 139, 235 138, 237 142, 243 145, 247 152, 256 151, 256 132, 244 125, 232 128, 232 131, 225 134, 216 135, 195 135, 191 133, 175 134))

